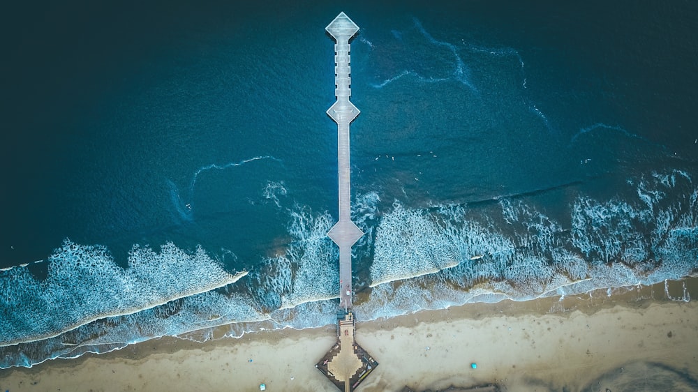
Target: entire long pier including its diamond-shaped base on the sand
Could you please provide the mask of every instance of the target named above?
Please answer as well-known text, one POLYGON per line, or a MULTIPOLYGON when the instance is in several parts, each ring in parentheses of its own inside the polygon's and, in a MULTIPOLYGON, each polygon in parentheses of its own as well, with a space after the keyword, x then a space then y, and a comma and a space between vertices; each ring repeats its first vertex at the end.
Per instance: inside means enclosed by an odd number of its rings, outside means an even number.
POLYGON ((334 96, 336 102, 327 115, 337 123, 337 159, 339 172, 339 222, 327 232, 339 246, 339 306, 343 313, 337 319, 337 343, 315 364, 322 374, 340 390, 353 391, 378 365, 355 340, 355 319, 352 308, 351 247, 364 232, 352 222, 349 167, 349 124, 359 110, 349 100, 351 68, 349 41, 359 27, 345 13, 339 13, 325 28, 334 44, 334 96))

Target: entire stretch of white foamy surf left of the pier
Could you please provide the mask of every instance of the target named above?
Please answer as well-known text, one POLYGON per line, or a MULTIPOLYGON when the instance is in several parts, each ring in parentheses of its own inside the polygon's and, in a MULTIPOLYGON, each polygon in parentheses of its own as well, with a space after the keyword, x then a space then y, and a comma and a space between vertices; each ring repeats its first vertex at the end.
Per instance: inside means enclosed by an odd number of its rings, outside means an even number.
POLYGON ((172 243, 159 253, 135 246, 121 269, 103 246, 67 240, 43 281, 22 266, 2 271, 1 322, 12 328, 2 331, 0 368, 162 336, 204 341, 221 326, 237 337, 331 323, 339 285, 339 252, 326 235, 332 217, 302 206, 288 212, 290 243, 251 272, 231 275, 202 248, 189 255, 172 243))

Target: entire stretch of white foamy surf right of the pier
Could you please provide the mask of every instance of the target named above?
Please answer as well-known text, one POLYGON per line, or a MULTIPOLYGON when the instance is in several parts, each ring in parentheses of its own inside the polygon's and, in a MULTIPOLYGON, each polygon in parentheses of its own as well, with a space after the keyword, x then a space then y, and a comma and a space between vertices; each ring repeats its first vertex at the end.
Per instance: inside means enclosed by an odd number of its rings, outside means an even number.
POLYGON ((498 211, 395 202, 376 229, 373 289, 357 315, 564 296, 695 273, 698 188, 691 176, 653 172, 628 186, 637 197, 578 195, 560 220, 515 197, 500 199, 498 211))

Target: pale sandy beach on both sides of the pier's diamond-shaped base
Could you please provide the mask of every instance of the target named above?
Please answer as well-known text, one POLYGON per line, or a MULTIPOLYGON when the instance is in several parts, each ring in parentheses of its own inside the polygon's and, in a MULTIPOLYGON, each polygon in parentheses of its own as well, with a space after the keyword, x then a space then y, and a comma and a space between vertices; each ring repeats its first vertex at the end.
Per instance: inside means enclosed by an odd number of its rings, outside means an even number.
MULTIPOLYGON (((358 390, 694 391, 698 306, 662 291, 655 285, 359 322, 357 342, 380 365, 358 390)), ((1 370, 0 390, 259 391, 265 383, 267 391, 336 391, 314 368, 335 340, 332 325, 206 343, 163 338, 1 370)))

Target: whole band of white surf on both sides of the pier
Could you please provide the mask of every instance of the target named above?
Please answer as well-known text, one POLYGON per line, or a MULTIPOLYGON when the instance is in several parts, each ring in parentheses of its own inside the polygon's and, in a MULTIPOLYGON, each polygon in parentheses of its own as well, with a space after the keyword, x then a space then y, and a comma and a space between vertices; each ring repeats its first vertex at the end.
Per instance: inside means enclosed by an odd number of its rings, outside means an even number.
MULTIPOLYGON (((357 317, 651 285, 695 273, 692 176, 653 172, 627 187, 623 199, 579 193, 567 216, 556 218, 540 210, 535 195, 473 206, 394 202, 387 211, 380 210, 378 193, 357 195, 352 219, 366 235, 354 258, 358 266, 366 263, 368 281, 355 276, 357 287, 370 286, 357 296, 357 317)), ((283 211, 288 237, 274 255, 236 275, 201 248, 190 255, 171 243, 159 253, 135 246, 122 269, 105 248, 69 241, 48 260, 43 281, 26 267, 1 271, 0 368, 161 336, 205 341, 333 323, 339 252, 326 236, 332 216, 299 205, 283 211)))

